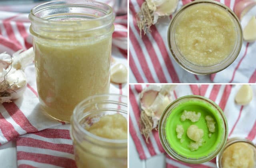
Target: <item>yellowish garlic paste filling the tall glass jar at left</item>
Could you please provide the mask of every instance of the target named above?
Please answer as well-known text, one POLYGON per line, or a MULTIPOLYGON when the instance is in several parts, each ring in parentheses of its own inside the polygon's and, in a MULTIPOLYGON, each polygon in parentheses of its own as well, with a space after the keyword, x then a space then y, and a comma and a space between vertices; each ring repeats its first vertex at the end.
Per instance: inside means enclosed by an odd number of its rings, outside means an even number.
POLYGON ((81 31, 96 26, 100 26, 100 22, 90 21, 78 28, 60 28, 53 32, 49 29, 41 33, 46 38, 34 37, 40 103, 58 120, 69 122, 80 101, 109 92, 113 27, 81 31))

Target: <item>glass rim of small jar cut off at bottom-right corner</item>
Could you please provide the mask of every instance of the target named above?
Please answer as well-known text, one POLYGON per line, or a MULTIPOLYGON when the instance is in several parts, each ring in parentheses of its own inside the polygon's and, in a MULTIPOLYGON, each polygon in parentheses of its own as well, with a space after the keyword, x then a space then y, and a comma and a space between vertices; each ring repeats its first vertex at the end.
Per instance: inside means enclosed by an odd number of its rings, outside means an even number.
MULTIPOLYGON (((240 143, 240 142, 243 142, 243 143, 246 143, 248 144, 252 149, 253 149, 253 152, 254 152, 254 167, 256 166, 256 145, 254 143, 252 143, 250 140, 247 140, 247 139, 244 139, 244 138, 230 138, 225 147, 223 148, 223 150, 217 155, 216 157, 216 164, 217 164, 217 167, 218 168, 223 168, 222 166, 222 155, 223 155, 223 152, 228 148, 230 147, 231 145, 233 144, 236 144, 236 143, 240 143)), ((240 158, 237 158, 237 159, 240 159, 240 158)))

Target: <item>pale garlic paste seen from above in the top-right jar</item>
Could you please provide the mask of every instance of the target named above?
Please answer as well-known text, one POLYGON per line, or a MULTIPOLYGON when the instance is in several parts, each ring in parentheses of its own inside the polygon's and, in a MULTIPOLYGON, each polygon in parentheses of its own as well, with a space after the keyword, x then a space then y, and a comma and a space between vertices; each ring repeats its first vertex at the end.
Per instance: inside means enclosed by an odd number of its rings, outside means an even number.
POLYGON ((229 56, 236 44, 236 25, 224 8, 194 4, 184 10, 175 30, 180 53, 192 64, 212 66, 229 56))

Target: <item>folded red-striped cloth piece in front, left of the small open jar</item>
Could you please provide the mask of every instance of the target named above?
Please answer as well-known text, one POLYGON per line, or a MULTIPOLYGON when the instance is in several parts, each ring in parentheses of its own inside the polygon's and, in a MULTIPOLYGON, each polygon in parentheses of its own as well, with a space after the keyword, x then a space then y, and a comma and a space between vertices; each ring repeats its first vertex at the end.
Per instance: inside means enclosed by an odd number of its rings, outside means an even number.
POLYGON ((76 168, 69 129, 64 124, 18 137, 18 168, 76 168))

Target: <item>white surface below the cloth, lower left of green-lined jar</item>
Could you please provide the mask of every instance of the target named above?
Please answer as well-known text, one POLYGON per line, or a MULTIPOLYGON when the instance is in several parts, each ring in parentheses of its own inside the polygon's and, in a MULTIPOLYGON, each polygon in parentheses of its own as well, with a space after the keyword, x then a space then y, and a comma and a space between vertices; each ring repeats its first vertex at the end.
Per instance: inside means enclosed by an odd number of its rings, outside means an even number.
POLYGON ((139 154, 136 150, 135 144, 132 140, 132 136, 129 136, 129 164, 130 168, 165 168, 165 156, 164 154, 156 155, 147 160, 140 160, 139 154))

